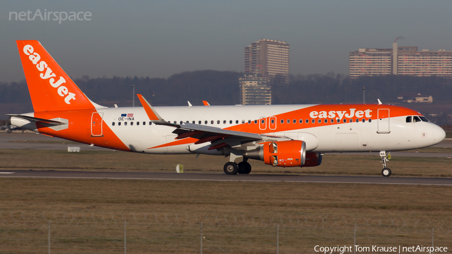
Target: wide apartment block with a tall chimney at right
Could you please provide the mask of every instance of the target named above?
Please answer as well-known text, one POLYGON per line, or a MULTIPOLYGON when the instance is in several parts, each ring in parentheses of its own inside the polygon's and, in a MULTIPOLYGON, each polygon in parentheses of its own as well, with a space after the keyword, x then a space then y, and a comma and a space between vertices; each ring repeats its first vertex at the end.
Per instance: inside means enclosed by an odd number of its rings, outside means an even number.
POLYGON ((392 49, 362 48, 349 53, 350 77, 374 75, 412 75, 452 77, 452 51, 429 51, 417 47, 392 49))

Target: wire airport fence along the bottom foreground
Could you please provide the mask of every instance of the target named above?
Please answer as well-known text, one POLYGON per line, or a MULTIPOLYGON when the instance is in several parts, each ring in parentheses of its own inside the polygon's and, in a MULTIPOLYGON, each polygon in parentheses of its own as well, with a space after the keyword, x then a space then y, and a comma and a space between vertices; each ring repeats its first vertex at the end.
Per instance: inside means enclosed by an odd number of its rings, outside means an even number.
POLYGON ((313 253, 316 245, 450 248, 451 239, 452 219, 429 217, 0 210, 0 252, 12 253, 313 253))

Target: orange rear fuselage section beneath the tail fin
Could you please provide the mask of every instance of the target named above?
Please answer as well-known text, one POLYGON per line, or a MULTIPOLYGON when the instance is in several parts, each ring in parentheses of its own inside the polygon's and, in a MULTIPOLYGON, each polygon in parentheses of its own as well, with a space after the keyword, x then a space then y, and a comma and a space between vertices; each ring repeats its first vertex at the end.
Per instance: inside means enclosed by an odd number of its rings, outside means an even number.
POLYGON ((70 111, 42 111, 35 112, 35 117, 52 119, 64 118, 68 119, 68 128, 65 130, 55 131, 42 123, 37 122, 36 126, 38 132, 59 137, 66 140, 76 141, 84 144, 94 144, 97 147, 104 147, 109 149, 116 149, 130 152, 128 148, 118 136, 111 131, 108 125, 102 120, 102 136, 91 136, 91 115, 97 112, 94 109, 80 109, 70 111))

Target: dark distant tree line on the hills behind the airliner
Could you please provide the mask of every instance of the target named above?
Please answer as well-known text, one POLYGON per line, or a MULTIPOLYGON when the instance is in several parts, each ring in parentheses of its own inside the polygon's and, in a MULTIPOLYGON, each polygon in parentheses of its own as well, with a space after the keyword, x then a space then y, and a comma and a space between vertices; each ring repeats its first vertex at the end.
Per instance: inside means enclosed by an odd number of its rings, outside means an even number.
MULTIPOLYGON (((93 101, 132 105, 132 85, 135 93, 143 94, 152 105, 234 105, 239 99, 239 77, 244 73, 202 70, 182 72, 169 78, 99 77, 83 76, 74 82, 93 101)), ((366 102, 397 101, 397 94, 419 92, 433 96, 434 101, 452 101, 452 81, 442 77, 367 76, 350 79, 332 72, 311 75, 291 75, 288 84, 272 82, 273 104, 305 103, 362 103, 366 88, 366 102)), ((0 83, 0 103, 30 103, 24 81, 0 83)), ((138 98, 135 102, 139 105, 138 98)), ((31 103, 30 103, 31 104, 31 103)))

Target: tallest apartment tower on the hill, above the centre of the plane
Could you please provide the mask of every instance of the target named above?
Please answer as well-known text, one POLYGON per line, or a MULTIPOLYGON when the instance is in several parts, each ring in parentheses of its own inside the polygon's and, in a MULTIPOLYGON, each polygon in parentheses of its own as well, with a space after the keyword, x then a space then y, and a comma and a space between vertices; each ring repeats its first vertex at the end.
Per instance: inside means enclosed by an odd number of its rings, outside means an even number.
POLYGON ((245 47, 245 74, 258 73, 261 77, 281 75, 289 80, 289 44, 261 39, 245 47))

